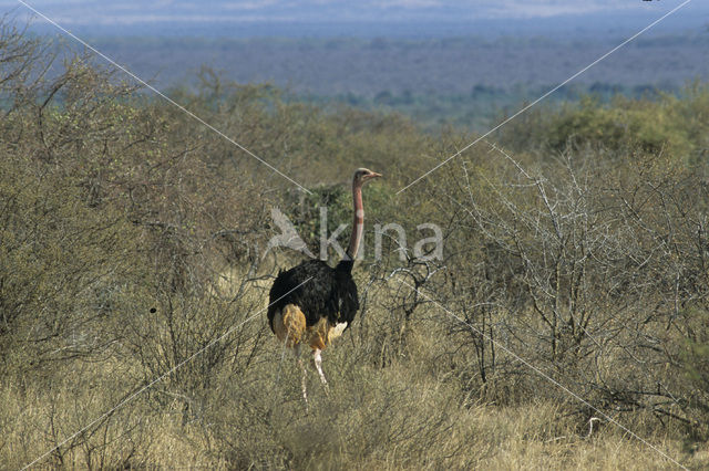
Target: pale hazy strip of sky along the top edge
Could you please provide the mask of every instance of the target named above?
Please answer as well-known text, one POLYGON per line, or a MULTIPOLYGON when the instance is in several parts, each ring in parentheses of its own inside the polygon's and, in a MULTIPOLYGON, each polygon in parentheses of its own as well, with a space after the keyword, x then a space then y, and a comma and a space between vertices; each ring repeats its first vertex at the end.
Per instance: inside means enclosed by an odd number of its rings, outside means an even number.
MULTIPOLYGON (((545 18, 616 12, 661 14, 680 0, 27 0, 65 24, 131 24, 155 21, 374 21, 545 18)), ((686 7, 709 14, 707 0, 686 7), (701 7, 699 4, 702 4, 701 7)), ((0 0, 0 11, 28 10, 0 0)), ((708 19, 709 21, 709 19, 708 19)))

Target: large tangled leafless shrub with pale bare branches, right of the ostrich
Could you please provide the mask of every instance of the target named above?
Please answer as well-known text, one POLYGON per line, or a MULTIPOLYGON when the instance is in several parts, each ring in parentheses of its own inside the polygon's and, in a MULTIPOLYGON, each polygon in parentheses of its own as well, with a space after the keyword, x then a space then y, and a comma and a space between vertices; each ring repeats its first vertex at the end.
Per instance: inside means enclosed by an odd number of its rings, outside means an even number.
POLYGON ((479 380, 501 360, 497 341, 599 407, 692 421, 681 368, 667 367, 686 337, 678 321, 697 325, 687 310, 705 308, 700 180, 661 154, 523 166, 492 151, 495 164, 461 163, 436 198, 458 214, 444 300, 467 324, 452 322, 479 380))

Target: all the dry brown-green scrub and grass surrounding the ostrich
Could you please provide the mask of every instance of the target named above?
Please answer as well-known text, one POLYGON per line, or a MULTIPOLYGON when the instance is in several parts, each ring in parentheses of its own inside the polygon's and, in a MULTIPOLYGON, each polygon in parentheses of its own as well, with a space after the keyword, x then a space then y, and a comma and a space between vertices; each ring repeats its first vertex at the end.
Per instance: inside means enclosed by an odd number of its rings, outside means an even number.
POLYGON ((1 24, 4 465, 709 464, 706 86, 538 112, 496 136, 505 148, 480 143, 400 196, 471 136, 208 72, 175 96, 305 197, 169 104, 43 48, 1 24), (307 407, 265 322, 295 257, 264 253, 269 208, 314 241, 318 205, 347 213, 333 185, 354 166, 388 177, 369 229, 434 222, 444 260, 402 262, 392 238, 360 263, 362 311, 307 407))

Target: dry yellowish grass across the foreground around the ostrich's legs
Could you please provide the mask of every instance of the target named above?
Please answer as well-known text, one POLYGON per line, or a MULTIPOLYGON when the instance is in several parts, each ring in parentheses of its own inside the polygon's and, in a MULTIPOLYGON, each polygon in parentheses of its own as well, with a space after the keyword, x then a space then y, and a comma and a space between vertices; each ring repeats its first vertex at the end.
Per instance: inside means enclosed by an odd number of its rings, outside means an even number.
MULTIPOLYGON (((362 360, 367 320, 325 354, 326 394, 309 375, 310 404, 300 398, 299 370, 270 335, 248 368, 225 364, 208 390, 157 384, 42 460, 50 468, 162 469, 671 469, 671 461, 621 429, 569 414, 573 400, 520 398, 495 406, 471 397, 441 363, 433 321, 408 334, 405 350, 387 367, 362 360)), ((264 316, 249 328, 257 332, 264 316)), ((110 410, 125 395, 127 362, 75 364, 1 388, 0 460, 21 468, 63 437, 110 410)), ((540 384, 541 388, 554 388, 540 384)), ((544 395, 541 395, 544 396, 544 395)), ((689 450, 669 426, 634 416, 628 427, 689 468, 709 465, 706 444, 689 450), (675 438, 672 438, 675 437, 675 438)))

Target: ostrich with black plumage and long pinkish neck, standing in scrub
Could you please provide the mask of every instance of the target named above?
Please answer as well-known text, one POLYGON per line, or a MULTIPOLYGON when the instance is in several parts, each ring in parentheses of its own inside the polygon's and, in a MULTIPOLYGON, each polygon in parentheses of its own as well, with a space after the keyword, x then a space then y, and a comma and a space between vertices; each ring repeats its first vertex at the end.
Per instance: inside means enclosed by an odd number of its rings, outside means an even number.
POLYGON ((320 352, 345 332, 359 310, 352 266, 364 229, 362 186, 378 177, 381 175, 367 168, 354 171, 352 234, 345 258, 337 266, 331 268, 322 260, 307 260, 288 271, 279 272, 270 289, 268 323, 278 339, 292 348, 298 357, 302 368, 302 397, 306 402, 306 369, 300 359, 300 345, 307 344, 312 348, 312 364, 320 380, 327 386, 320 352))

